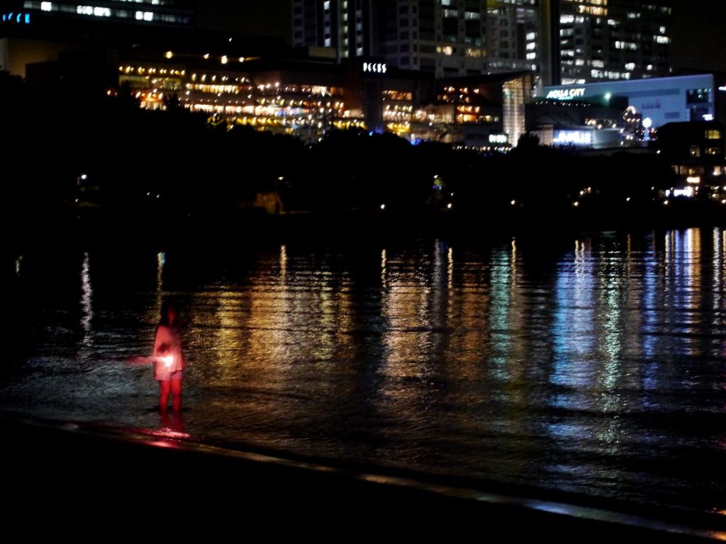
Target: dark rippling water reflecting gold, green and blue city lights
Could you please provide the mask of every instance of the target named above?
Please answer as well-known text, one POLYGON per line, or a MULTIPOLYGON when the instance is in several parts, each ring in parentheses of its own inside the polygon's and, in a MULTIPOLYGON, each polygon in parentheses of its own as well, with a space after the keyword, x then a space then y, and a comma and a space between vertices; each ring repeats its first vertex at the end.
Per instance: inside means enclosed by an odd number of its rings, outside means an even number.
POLYGON ((127 360, 173 295, 194 440, 726 511, 722 228, 38 250, 11 276, 0 408, 168 425, 127 360))

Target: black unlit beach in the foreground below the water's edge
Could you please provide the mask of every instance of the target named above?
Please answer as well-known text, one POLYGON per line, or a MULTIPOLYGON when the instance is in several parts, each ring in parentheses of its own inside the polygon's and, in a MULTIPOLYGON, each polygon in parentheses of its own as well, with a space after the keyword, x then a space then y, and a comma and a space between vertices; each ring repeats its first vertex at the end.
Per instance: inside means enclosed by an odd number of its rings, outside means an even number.
POLYGON ((188 529, 234 531, 245 540, 259 532, 265 540, 726 540, 726 520, 717 515, 472 480, 373 474, 154 434, 9 416, 0 422, 6 531, 26 535, 94 535, 102 528, 170 537, 188 529), (36 522, 28 523, 28 514, 36 522))

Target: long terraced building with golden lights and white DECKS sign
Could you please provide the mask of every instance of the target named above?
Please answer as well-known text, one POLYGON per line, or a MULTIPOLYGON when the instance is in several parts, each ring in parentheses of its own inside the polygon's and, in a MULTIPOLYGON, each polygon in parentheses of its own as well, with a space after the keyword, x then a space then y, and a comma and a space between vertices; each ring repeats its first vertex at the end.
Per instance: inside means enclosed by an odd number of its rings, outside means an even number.
POLYGON ((332 128, 364 128, 410 141, 507 147, 524 131, 524 90, 531 86, 529 73, 436 79, 362 59, 230 57, 222 64, 219 57, 159 52, 153 60, 128 57, 116 70, 118 86, 130 86, 142 107, 166 107, 176 95, 214 122, 305 141, 332 128))

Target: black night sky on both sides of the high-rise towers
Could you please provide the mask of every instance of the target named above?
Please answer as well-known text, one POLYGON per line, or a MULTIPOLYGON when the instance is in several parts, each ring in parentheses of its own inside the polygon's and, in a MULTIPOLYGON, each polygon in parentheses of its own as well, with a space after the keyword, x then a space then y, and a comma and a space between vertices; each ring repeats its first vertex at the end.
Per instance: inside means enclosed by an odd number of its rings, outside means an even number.
MULTIPOLYGON (((673 0, 674 70, 726 72, 726 1, 673 0)), ((289 42, 290 0, 198 0, 200 28, 274 36, 289 42)))

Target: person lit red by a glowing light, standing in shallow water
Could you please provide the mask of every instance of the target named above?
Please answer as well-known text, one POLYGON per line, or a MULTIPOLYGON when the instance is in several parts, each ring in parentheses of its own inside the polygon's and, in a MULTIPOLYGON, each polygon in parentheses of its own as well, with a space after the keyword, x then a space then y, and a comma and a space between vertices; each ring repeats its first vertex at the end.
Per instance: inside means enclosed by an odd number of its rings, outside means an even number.
POLYGON ((154 376, 159 382, 159 409, 166 412, 171 392, 171 407, 181 410, 181 379, 187 366, 181 353, 181 334, 176 306, 165 302, 154 339, 154 376))

